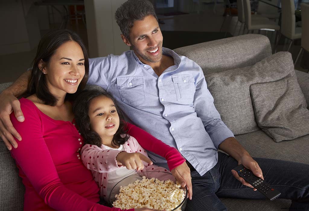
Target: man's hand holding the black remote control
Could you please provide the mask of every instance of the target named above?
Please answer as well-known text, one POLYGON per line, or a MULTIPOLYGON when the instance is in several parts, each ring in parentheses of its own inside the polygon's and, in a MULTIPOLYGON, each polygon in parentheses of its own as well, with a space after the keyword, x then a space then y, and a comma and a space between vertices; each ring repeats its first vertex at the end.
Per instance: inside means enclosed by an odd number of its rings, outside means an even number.
MULTIPOLYGON (((249 154, 243 155, 238 162, 238 165, 239 164, 243 164, 243 166, 250 169, 255 176, 260 177, 264 180, 263 173, 262 173, 262 170, 259 164, 254 159, 252 159, 252 157, 249 154)), ((253 188, 253 186, 249 184, 248 182, 246 182, 242 177, 240 177, 235 170, 232 170, 232 174, 243 185, 253 188)), ((253 188, 253 190, 256 191, 256 188, 253 188)))

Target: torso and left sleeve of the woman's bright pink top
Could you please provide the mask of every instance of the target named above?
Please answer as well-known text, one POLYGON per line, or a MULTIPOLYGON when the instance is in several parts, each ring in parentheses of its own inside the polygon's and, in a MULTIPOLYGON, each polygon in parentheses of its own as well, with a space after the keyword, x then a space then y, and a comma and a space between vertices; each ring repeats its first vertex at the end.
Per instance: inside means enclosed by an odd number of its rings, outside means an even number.
POLYGON ((25 121, 14 114, 11 121, 23 140, 11 154, 26 188, 24 210, 119 211, 97 204, 99 188, 80 159, 83 138, 75 126, 48 117, 28 99, 19 101, 25 121))

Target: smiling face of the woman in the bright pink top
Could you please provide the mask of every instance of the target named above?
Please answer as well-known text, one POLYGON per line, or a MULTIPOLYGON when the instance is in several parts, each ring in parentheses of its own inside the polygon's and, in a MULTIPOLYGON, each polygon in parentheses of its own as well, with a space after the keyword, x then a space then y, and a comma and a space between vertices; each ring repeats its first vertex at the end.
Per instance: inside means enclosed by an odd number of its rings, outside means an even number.
POLYGON ((77 42, 63 43, 44 68, 39 64, 42 72, 46 72, 49 91, 55 96, 75 93, 85 75, 84 62, 83 50, 77 42))

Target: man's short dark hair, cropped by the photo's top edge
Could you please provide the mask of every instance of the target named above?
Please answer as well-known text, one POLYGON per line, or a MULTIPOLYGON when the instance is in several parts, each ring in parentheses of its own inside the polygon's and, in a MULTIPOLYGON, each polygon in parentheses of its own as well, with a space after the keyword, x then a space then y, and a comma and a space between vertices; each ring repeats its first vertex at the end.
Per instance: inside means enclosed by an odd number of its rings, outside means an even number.
POLYGON ((153 15, 157 21, 155 8, 148 0, 129 0, 123 3, 115 13, 115 19, 122 34, 129 39, 130 30, 136 20, 144 20, 146 16, 153 15))

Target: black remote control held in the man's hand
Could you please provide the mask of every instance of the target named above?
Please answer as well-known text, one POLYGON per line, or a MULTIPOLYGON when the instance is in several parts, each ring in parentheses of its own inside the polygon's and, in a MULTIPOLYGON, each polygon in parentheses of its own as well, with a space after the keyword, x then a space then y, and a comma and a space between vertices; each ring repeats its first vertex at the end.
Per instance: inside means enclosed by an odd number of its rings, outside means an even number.
POLYGON ((262 180, 260 177, 255 176, 250 169, 245 168, 242 164, 234 168, 234 170, 240 177, 246 180, 271 201, 280 196, 281 193, 279 191, 272 188, 270 184, 262 180))

